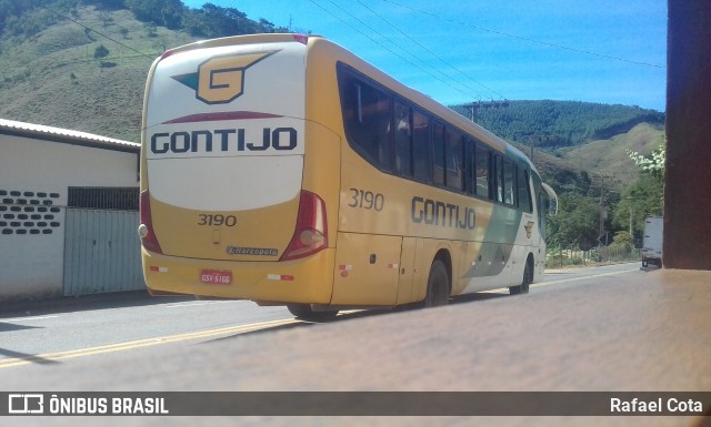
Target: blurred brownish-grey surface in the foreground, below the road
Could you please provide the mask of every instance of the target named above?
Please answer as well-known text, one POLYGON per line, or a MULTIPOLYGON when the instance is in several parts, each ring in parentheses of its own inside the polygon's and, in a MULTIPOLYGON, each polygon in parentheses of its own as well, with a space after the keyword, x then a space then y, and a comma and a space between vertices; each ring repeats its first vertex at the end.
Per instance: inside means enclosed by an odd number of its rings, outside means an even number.
MULTIPOLYGON (((709 325, 711 272, 657 271, 599 277, 593 287, 532 289, 523 296, 234 335, 174 352, 123 352, 46 369, 7 369, 0 375, 8 390, 709 392, 709 325)), ((39 418, 23 418, 22 425, 31 425, 26 420, 39 418)), ((118 424, 116 418, 80 420, 118 424)), ((209 420, 211 425, 270 426, 710 425, 708 417, 209 420)), ((77 419, 51 421, 76 425, 77 419)), ((120 421, 193 425, 196 419, 120 421)))

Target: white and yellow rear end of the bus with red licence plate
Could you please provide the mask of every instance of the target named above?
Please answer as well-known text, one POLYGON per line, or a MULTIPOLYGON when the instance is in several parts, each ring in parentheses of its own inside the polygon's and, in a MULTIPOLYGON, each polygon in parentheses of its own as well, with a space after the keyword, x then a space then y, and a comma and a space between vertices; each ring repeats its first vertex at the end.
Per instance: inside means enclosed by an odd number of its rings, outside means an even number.
POLYGON ((306 40, 194 43, 153 63, 141 154, 151 293, 328 304, 322 195, 302 185, 306 40))

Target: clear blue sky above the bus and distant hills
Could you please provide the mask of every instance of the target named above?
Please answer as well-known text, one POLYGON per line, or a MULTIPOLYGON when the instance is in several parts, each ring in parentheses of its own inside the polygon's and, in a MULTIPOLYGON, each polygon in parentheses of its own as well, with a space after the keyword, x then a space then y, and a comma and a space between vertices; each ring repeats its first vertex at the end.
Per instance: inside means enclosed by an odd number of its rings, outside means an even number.
POLYGON ((550 99, 665 110, 667 0, 210 2, 322 35, 445 105, 550 99))

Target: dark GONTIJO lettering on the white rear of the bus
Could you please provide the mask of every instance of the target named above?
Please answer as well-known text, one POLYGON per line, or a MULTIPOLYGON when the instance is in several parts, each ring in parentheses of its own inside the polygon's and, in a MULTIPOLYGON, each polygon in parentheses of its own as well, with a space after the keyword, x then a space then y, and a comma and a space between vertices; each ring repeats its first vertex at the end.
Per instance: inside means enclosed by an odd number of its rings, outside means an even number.
POLYGON ((151 152, 211 153, 216 151, 289 151, 297 148, 298 131, 293 128, 263 128, 261 141, 247 134, 246 129, 218 129, 213 131, 158 132, 151 135, 151 152), (249 142, 248 142, 249 141, 249 142))

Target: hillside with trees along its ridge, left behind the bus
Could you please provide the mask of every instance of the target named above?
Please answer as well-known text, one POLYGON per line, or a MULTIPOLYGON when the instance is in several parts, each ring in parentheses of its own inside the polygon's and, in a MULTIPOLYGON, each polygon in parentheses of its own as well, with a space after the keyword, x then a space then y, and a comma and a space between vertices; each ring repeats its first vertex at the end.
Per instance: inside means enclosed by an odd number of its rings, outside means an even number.
POLYGON ((0 116, 138 142, 148 70, 166 49, 286 29, 209 3, 0 0, 0 116))

